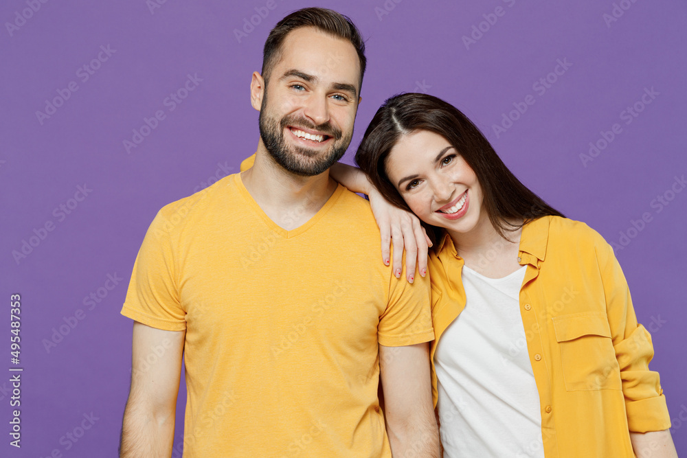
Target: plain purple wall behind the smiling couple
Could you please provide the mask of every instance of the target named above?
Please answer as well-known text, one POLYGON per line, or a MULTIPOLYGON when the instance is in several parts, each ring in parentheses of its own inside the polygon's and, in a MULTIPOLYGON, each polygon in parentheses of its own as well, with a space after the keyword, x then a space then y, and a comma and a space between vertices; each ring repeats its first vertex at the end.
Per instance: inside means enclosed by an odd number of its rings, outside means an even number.
MULTIPOLYGON (((2 2, 0 455, 116 456, 132 326, 119 312, 144 233, 160 207, 237 172, 254 152, 249 82, 262 43, 285 14, 311 5, 236 3, 2 2), (14 293, 19 365, 10 362, 14 293), (60 329, 68 334, 53 337, 60 329), (9 367, 24 369, 21 450, 9 444, 9 367)), ((346 161, 385 98, 426 91, 469 115, 524 183, 620 248, 638 318, 652 331, 673 437, 687 453, 687 6, 318 5, 348 14, 368 38, 346 161)))

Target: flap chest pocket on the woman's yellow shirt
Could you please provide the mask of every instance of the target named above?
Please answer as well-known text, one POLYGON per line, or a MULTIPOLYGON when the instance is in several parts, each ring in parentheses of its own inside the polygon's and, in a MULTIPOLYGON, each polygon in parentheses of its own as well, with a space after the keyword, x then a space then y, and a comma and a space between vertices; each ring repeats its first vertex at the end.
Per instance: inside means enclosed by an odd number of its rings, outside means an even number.
POLYGON ((583 312, 552 320, 567 391, 622 389, 606 314, 583 312))

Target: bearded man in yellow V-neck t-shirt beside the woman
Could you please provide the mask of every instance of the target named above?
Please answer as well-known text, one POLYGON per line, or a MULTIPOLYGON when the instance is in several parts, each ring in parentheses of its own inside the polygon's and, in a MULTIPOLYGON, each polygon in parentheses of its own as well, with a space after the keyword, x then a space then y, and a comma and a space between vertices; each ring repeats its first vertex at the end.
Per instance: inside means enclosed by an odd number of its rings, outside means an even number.
POLYGON ((170 455, 182 352, 185 457, 438 456, 429 282, 379 262, 368 203, 328 176, 364 71, 341 14, 271 31, 254 166, 164 207, 139 251, 123 457, 170 455))

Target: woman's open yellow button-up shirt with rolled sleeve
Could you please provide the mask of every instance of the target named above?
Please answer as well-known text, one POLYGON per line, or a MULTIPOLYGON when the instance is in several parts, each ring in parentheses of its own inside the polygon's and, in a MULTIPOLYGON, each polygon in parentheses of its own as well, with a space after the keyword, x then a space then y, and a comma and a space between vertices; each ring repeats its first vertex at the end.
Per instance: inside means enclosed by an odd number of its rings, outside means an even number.
MULTIPOLYGON (((527 266, 519 295, 526 345, 509 352, 528 352, 545 456, 634 457, 629 431, 662 431, 671 420, 649 370, 651 335, 637 323, 613 250, 583 222, 545 216, 523 227, 518 260, 527 266)), ((465 308, 462 266, 444 234, 430 261, 435 405, 434 352, 465 308)))

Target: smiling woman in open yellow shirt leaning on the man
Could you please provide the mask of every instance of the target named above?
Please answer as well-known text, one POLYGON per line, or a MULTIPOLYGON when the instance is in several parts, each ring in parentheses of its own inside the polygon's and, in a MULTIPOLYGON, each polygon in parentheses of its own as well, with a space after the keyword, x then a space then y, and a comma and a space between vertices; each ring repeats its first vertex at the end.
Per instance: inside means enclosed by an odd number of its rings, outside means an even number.
POLYGON ((677 457, 651 337, 598 233, 528 190, 431 95, 387 100, 355 159, 369 181, 345 167, 335 179, 412 211, 433 239, 431 367, 446 456, 677 457))

